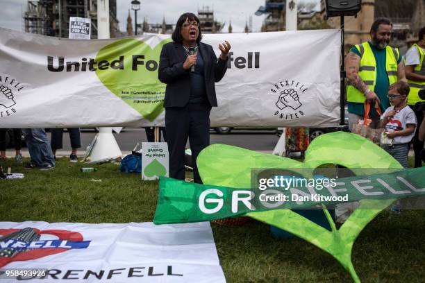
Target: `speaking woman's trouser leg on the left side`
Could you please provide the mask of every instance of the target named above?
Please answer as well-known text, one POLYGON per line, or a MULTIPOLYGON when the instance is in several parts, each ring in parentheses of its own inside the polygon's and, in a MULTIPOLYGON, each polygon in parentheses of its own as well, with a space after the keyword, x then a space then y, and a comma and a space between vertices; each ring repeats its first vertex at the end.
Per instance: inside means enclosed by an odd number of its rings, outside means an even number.
POLYGON ((185 148, 188 141, 189 123, 188 106, 165 110, 169 176, 178 180, 185 180, 185 148))

